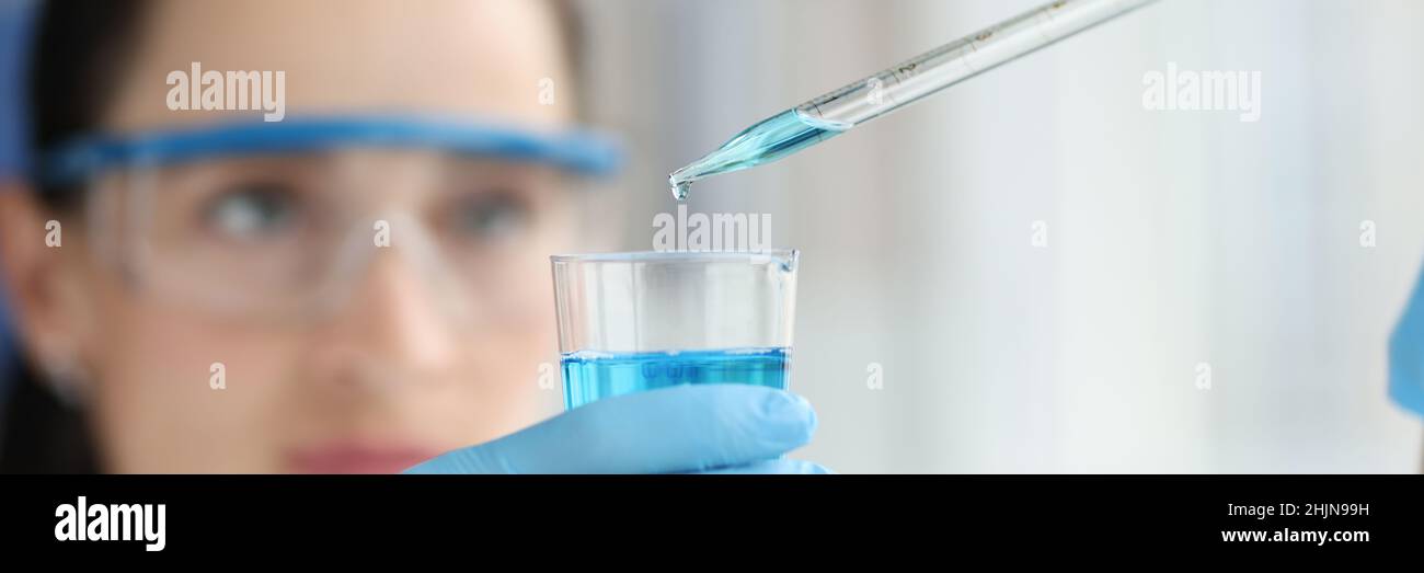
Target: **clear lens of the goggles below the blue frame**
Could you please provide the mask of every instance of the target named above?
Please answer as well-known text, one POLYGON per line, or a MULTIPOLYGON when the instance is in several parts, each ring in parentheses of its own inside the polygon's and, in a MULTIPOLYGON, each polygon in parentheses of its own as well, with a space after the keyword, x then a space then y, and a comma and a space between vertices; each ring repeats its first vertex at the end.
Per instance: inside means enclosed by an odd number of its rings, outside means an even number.
POLYGON ((88 194, 101 252, 137 286, 246 316, 310 316, 394 255, 451 316, 547 306, 562 172, 439 151, 208 158, 110 172, 88 194), (533 292, 531 292, 533 291, 533 292))

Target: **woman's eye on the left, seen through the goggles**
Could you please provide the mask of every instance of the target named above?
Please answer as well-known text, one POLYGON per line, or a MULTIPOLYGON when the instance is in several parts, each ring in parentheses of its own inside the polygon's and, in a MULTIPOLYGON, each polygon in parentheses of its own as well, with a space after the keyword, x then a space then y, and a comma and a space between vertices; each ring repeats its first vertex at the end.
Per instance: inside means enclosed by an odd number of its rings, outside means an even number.
POLYGON ((208 201, 204 222, 221 235, 259 239, 285 231, 296 217, 296 200, 282 184, 245 182, 208 201))

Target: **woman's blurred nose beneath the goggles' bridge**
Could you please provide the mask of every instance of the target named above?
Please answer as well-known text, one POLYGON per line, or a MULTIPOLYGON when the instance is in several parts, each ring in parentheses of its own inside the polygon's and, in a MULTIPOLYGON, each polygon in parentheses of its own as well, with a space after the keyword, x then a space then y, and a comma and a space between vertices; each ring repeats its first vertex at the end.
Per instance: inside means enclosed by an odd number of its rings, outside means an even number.
POLYGON ((441 379, 459 346, 449 312, 402 241, 366 247, 376 249, 370 264, 316 334, 315 375, 362 386, 441 379))

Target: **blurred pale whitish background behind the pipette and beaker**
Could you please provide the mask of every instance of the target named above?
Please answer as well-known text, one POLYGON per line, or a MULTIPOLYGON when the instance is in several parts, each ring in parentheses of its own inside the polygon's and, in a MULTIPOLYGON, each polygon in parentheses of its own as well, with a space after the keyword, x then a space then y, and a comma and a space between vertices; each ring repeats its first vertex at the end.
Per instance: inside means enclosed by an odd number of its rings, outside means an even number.
MULTIPOLYGON (((580 3, 594 123, 629 147, 602 200, 621 247, 651 248, 668 172, 733 133, 1038 3, 580 3)), ((696 185, 692 211, 769 212, 802 249, 793 389, 820 429, 796 458, 1417 470, 1386 349, 1424 261, 1421 23, 1414 0, 1165 0, 696 185), (1260 71, 1260 120, 1143 110, 1169 63, 1260 71)))

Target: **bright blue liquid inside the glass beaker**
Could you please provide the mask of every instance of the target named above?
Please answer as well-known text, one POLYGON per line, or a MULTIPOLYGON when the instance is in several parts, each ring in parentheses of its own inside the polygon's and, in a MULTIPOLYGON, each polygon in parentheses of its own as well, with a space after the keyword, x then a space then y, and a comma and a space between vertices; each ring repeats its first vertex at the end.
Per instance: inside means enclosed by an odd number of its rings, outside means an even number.
POLYGON ((732 382, 786 389, 790 381, 790 349, 786 348, 568 352, 560 365, 564 371, 565 409, 684 383, 732 382))

